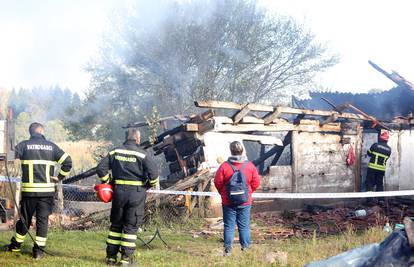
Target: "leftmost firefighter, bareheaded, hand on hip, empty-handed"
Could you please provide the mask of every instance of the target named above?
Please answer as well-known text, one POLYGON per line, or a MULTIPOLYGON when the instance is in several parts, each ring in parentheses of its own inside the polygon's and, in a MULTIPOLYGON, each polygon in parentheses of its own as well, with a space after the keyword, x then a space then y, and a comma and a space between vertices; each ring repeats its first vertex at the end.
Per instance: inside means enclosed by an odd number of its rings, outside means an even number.
POLYGON ((70 156, 56 144, 44 137, 42 124, 34 122, 29 127, 30 139, 19 143, 15 149, 16 158, 22 167, 20 202, 21 218, 16 224, 16 233, 8 245, 8 251, 18 252, 36 214, 36 237, 33 247, 35 259, 43 256, 46 246, 49 215, 53 210, 55 182, 63 179, 72 168, 70 156), (60 171, 54 176, 55 167, 60 171))

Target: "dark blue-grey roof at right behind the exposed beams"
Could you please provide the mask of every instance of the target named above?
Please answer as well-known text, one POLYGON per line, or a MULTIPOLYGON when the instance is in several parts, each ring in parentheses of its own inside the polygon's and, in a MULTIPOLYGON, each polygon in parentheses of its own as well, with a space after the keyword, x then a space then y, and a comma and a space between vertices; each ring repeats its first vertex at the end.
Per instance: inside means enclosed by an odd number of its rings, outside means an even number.
POLYGON ((380 120, 391 120, 396 116, 414 113, 414 91, 402 86, 380 93, 311 92, 310 96, 310 100, 297 102, 308 109, 322 110, 332 110, 322 97, 335 105, 349 102, 380 120))

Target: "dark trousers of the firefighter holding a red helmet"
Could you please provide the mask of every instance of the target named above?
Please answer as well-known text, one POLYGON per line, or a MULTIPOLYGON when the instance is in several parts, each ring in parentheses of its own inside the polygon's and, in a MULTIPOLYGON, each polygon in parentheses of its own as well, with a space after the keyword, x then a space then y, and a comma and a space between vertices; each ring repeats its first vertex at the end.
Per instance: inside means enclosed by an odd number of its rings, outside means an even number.
POLYGON ((141 186, 115 185, 111 227, 106 240, 107 257, 115 258, 119 251, 125 256, 134 253, 138 227, 144 218, 146 195, 146 189, 141 186))

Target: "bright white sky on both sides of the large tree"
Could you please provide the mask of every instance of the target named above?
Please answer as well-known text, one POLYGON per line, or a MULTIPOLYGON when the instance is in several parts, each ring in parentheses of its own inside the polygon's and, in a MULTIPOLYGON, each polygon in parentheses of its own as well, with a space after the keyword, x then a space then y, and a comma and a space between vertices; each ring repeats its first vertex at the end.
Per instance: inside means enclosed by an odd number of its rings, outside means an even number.
MULTIPOLYGON (((187 0, 188 1, 188 0, 187 0)), ((128 0, 0 0, 0 88, 59 85, 85 92, 88 62, 98 54, 110 17, 128 0)), ((394 84, 368 60, 414 82, 414 1, 259 0, 271 13, 310 28, 340 63, 317 84, 341 92, 394 84)))

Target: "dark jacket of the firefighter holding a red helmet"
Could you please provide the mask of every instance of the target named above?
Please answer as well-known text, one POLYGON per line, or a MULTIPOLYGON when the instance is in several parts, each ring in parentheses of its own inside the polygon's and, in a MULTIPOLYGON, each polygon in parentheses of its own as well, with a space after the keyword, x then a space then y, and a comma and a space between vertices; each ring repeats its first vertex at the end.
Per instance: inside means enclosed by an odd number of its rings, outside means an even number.
POLYGON ((101 182, 110 182, 109 170, 115 185, 155 186, 159 181, 154 157, 131 140, 110 151, 98 164, 101 182))

